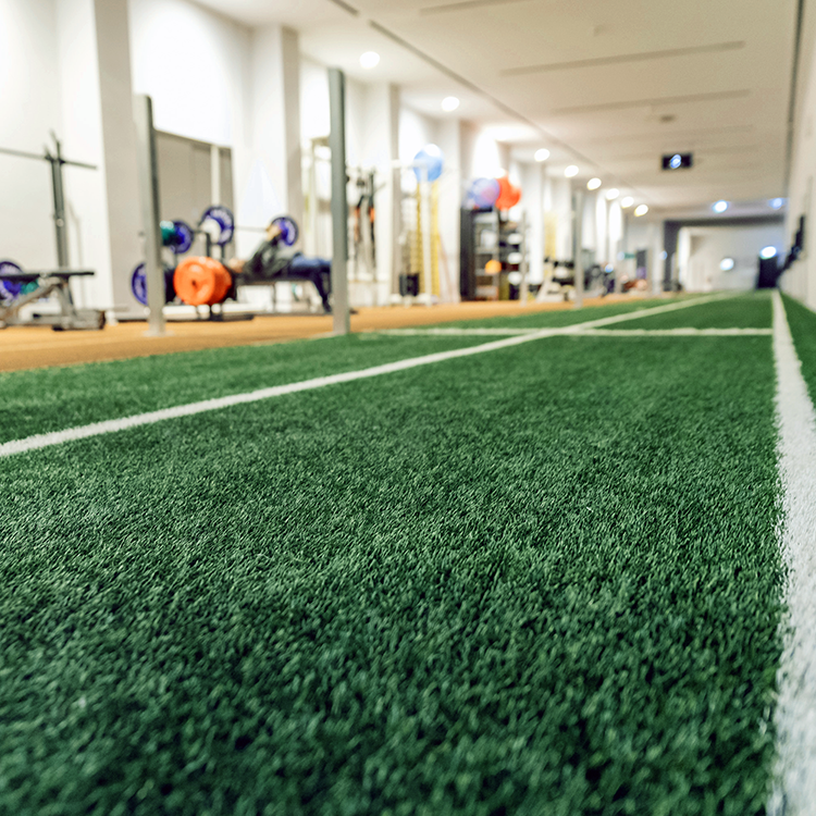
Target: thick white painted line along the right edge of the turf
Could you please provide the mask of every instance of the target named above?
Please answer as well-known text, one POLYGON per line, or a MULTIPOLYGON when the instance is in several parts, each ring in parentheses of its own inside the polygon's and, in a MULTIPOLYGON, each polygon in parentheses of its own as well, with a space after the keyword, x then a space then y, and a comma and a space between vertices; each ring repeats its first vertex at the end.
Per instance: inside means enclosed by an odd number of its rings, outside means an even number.
POLYGON ((784 305, 774 293, 782 553, 789 567, 771 816, 816 814, 816 413, 802 378, 784 305))

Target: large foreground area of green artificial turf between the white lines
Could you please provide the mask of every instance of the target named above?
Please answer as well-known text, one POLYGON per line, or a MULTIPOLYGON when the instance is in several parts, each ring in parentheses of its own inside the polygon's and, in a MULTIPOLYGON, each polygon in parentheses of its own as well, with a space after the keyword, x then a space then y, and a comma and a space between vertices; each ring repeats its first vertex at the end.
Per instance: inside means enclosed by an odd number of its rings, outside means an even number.
POLYGON ((0 461, 0 813, 745 816, 768 337, 558 337, 0 461))

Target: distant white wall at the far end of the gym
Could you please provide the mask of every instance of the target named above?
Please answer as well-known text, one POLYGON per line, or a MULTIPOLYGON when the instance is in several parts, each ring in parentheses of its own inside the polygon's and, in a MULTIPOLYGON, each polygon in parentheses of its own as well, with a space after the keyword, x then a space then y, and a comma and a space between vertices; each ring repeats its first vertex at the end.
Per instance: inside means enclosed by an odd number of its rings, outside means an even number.
POLYGON ((781 255, 783 243, 782 226, 683 227, 678 239, 680 283, 687 292, 751 289, 761 250, 774 246, 781 255), (724 258, 733 258, 732 270, 720 269, 724 258))

